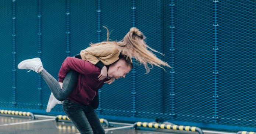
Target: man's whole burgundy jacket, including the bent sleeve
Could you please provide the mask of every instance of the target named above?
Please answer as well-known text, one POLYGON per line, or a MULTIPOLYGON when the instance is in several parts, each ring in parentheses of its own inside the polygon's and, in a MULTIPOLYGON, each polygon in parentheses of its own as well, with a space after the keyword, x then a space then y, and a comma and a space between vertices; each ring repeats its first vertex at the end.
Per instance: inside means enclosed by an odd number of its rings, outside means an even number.
POLYGON ((70 69, 79 74, 77 84, 70 95, 68 95, 68 99, 81 105, 89 105, 107 79, 98 80, 100 68, 92 63, 75 57, 67 57, 61 65, 58 82, 63 82, 70 69))

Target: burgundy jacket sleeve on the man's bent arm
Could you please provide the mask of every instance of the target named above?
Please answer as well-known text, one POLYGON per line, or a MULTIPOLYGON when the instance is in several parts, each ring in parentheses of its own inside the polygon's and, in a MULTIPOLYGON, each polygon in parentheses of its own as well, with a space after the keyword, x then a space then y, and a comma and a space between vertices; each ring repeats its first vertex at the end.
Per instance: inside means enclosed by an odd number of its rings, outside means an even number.
POLYGON ((70 69, 83 75, 88 75, 97 71, 97 69, 99 68, 97 68, 95 65, 88 61, 84 61, 75 57, 67 57, 63 61, 60 71, 58 73, 58 82, 63 82, 64 77, 67 75, 70 69))

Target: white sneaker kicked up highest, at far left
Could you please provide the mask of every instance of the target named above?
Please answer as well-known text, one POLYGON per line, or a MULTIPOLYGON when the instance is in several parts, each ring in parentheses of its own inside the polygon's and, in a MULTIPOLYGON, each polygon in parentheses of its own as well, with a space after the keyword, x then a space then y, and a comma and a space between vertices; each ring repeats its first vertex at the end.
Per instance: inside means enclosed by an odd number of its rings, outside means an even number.
POLYGON ((29 71, 33 70, 36 73, 38 73, 39 68, 43 68, 40 58, 26 59, 18 64, 18 69, 29 69, 29 71))

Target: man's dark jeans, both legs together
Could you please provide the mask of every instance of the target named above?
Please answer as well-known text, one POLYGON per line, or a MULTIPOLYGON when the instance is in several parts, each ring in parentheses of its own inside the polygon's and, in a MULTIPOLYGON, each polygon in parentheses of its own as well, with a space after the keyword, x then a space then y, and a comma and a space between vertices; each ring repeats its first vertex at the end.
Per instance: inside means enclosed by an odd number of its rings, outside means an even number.
POLYGON ((66 99, 62 107, 81 134, 105 134, 92 106, 80 105, 66 99))

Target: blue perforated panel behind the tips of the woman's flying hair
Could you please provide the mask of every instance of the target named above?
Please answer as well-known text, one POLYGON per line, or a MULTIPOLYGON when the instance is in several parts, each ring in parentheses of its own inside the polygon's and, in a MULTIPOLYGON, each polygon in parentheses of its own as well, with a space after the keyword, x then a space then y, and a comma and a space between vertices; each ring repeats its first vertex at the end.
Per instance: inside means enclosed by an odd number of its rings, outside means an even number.
MULTIPOLYGON (((153 49, 163 52, 163 27, 161 25, 162 1, 135 1, 136 6, 136 27, 138 27, 147 37, 146 43, 153 49), (145 8, 149 6, 150 8, 145 8), (143 17, 143 19, 141 19, 143 17)), ((160 54, 156 55, 163 59, 160 54)), ((149 74, 143 66, 136 68, 136 117, 159 118, 163 116, 164 88, 162 81, 163 70, 154 67, 149 74), (146 107, 143 108, 143 107, 146 107)))

